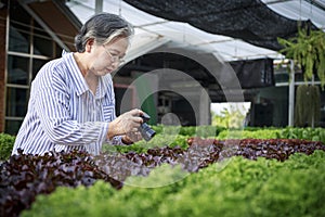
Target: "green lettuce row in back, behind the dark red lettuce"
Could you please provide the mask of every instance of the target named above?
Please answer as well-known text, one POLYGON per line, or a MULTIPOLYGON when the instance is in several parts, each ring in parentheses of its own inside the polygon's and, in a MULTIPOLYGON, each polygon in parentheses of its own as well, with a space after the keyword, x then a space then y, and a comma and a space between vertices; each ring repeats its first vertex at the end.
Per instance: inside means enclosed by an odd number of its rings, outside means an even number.
MULTIPOLYGON (((152 126, 157 135, 150 142, 140 141, 130 146, 104 146, 104 151, 114 149, 118 152, 135 151, 138 153, 146 152, 154 146, 181 146, 186 149, 186 139, 188 137, 217 138, 225 139, 304 139, 311 141, 322 141, 325 143, 324 128, 257 128, 247 127, 245 129, 224 129, 216 126, 152 126)), ((0 133, 0 161, 9 158, 12 152, 15 137, 0 133)))

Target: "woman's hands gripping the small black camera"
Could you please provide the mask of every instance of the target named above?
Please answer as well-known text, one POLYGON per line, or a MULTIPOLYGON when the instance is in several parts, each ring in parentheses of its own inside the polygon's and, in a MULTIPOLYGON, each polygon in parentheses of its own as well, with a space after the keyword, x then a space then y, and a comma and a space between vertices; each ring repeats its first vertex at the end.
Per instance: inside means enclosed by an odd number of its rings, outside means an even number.
POLYGON ((140 115, 143 115, 143 112, 135 108, 130 112, 126 112, 112 120, 108 126, 107 138, 110 140, 115 136, 125 136, 125 140, 131 140, 132 142, 139 141, 140 132, 138 129, 143 123, 140 115))

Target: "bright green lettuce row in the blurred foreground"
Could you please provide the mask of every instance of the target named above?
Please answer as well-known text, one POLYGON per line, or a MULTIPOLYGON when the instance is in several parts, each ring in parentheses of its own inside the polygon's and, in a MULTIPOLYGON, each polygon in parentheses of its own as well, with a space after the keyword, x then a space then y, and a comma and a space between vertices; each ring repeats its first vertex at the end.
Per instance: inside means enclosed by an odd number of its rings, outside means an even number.
MULTIPOLYGON (((60 187, 49 196, 39 195, 22 217, 325 216, 323 151, 296 153, 285 162, 235 156, 222 170, 219 164, 161 188, 128 184, 117 191, 103 181, 89 188, 60 187)), ((174 176, 174 170, 164 164, 148 177, 138 177, 139 182, 150 186, 174 176)))

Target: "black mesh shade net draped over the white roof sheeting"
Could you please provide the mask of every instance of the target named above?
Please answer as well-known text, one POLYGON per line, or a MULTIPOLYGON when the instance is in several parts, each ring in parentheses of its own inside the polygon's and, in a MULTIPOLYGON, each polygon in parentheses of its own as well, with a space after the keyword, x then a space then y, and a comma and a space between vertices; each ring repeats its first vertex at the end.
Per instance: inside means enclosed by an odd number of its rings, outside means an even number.
MULTIPOLYGON (((129 4, 169 20, 188 23, 204 31, 240 38, 251 44, 280 50, 277 37, 290 38, 297 21, 286 18, 259 0, 125 0, 129 4)), ((310 21, 302 26, 316 28, 310 21)))

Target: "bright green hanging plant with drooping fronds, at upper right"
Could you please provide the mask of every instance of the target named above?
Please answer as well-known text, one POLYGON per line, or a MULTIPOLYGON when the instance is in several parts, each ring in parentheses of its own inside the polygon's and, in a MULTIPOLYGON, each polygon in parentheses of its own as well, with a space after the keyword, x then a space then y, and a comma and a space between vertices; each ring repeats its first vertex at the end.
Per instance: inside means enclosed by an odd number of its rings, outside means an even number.
POLYGON ((303 69, 304 80, 317 74, 322 89, 325 86, 325 33, 299 28, 298 36, 290 39, 277 38, 284 48, 280 51, 303 69))

